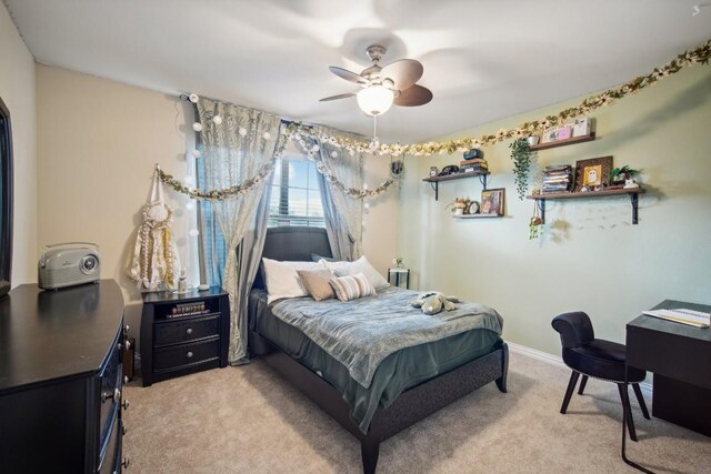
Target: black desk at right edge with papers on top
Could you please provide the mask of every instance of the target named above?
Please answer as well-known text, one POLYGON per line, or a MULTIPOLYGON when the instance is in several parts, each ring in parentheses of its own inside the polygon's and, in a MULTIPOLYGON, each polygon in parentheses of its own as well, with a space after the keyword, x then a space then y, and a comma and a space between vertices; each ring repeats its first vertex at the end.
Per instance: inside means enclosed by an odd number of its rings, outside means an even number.
MULTIPOLYGON (((711 306, 665 300, 653 310, 685 307, 709 312, 711 306)), ((627 324, 627 365, 654 373, 652 416, 711 436, 711 329, 694 327, 641 315, 627 324)), ((627 458, 622 422, 622 458, 627 458)))

